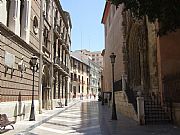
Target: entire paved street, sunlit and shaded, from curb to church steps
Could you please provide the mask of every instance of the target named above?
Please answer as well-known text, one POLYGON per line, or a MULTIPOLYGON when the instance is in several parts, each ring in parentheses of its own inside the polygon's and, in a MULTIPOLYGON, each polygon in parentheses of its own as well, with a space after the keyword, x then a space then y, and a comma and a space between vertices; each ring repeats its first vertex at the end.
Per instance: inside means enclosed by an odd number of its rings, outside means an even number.
POLYGON ((97 101, 84 100, 56 115, 27 135, 180 135, 180 128, 172 125, 140 126, 118 115, 111 120, 111 111, 97 101))

